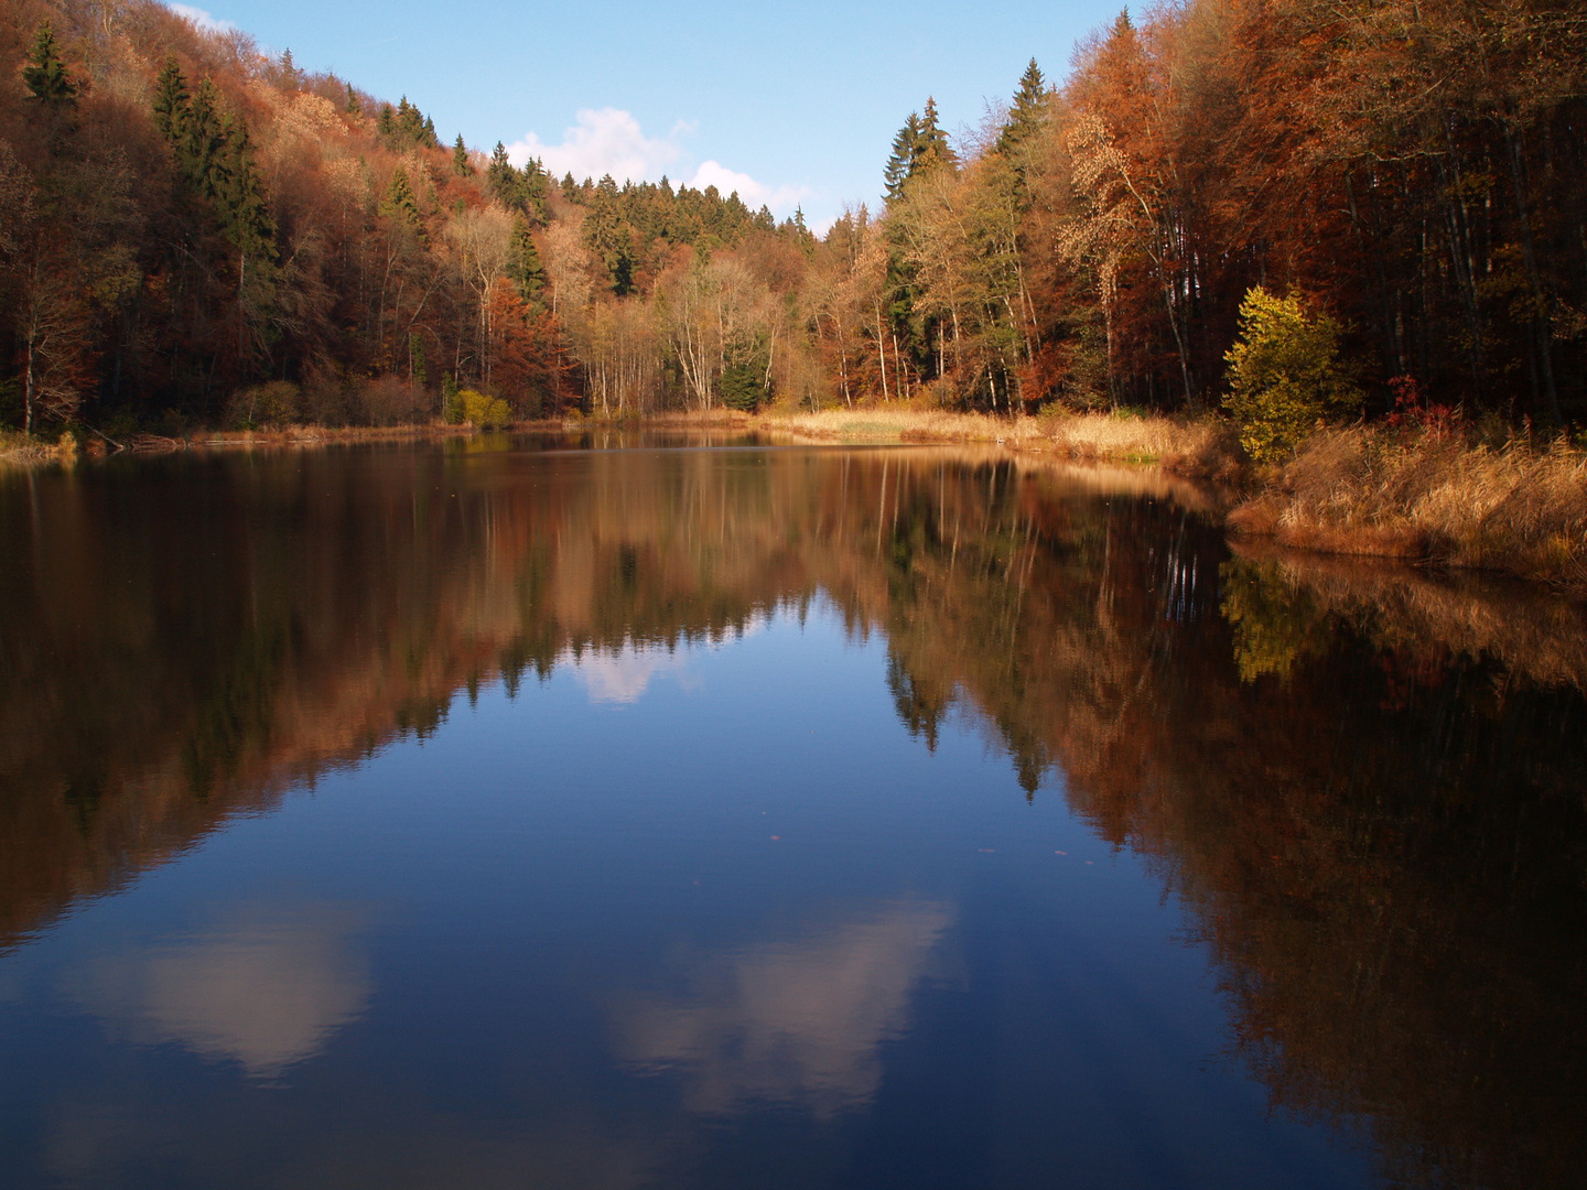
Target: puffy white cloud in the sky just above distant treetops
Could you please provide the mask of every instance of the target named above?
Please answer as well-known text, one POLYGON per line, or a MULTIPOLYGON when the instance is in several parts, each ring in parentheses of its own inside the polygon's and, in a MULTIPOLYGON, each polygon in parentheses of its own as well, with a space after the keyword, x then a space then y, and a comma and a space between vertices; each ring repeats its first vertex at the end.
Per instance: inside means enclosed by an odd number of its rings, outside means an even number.
MULTIPOLYGON (((506 154, 514 165, 538 157, 552 178, 571 173, 582 181, 609 173, 619 182, 655 182, 694 155, 684 151, 681 141, 698 130, 700 121, 678 121, 665 136, 646 136, 633 113, 579 108, 578 124, 563 129, 560 144, 546 144, 530 132, 506 146, 506 154)), ((700 165, 687 186, 697 190, 714 186, 724 197, 736 190, 749 209, 770 206, 774 214, 792 214, 811 194, 808 186, 770 186, 716 160, 700 165)))

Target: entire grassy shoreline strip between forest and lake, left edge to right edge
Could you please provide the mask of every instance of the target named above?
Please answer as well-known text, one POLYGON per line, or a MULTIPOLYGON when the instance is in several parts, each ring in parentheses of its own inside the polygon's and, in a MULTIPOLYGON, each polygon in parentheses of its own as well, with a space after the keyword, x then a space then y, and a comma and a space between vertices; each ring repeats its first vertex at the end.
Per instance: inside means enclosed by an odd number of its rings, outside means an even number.
MULTIPOLYGON (((557 417, 508 433, 611 428, 720 428, 794 443, 966 444, 1014 455, 1155 468, 1219 497, 1235 541, 1319 557, 1387 560, 1422 570, 1509 574, 1587 601, 1587 451, 1392 432, 1319 428, 1279 466, 1252 468, 1233 424, 1160 414, 1032 414, 1013 419, 941 409, 857 406, 819 413, 733 409, 557 417)), ((8 433, 0 465, 71 465, 78 457, 176 451, 306 449, 376 441, 470 438, 471 425, 284 427, 138 435, 127 443, 63 435, 46 444, 8 433)))

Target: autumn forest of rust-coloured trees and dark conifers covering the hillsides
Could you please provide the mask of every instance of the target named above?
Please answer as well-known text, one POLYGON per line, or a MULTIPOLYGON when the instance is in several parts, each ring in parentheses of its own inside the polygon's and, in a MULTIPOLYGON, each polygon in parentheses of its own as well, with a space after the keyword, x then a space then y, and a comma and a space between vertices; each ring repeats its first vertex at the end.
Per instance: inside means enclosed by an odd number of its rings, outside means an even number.
POLYGON ((0 425, 35 435, 1203 413, 1252 294, 1336 328, 1370 417, 1411 393, 1587 420, 1568 0, 1124 11, 974 125, 925 98, 881 209, 819 236, 714 187, 446 143, 406 95, 154 0, 0 13, 0 425))

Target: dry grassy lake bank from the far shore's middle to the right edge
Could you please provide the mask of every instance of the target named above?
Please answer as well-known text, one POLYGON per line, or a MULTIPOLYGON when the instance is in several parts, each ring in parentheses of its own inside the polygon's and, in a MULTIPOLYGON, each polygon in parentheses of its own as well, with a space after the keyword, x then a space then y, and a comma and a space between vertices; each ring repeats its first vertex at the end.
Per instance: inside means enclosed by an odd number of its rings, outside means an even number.
POLYGON ((1232 533, 1319 554, 1484 570, 1587 598, 1587 452, 1565 438, 1354 425, 1319 428, 1255 466, 1216 416, 989 417, 855 408, 759 419, 813 440, 997 443, 1066 459, 1151 463, 1217 484, 1232 533))

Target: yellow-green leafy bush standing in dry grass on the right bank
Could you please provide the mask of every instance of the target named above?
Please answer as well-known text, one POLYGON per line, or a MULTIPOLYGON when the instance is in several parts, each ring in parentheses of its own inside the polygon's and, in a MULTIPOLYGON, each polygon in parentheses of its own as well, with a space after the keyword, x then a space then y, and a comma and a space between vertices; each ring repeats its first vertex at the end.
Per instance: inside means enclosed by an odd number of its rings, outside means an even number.
POLYGON ((1257 462, 1293 454, 1319 422, 1362 406, 1338 359, 1339 330, 1327 314, 1308 317, 1298 297, 1278 298, 1262 286, 1239 303, 1239 341, 1224 355, 1224 408, 1257 462))

